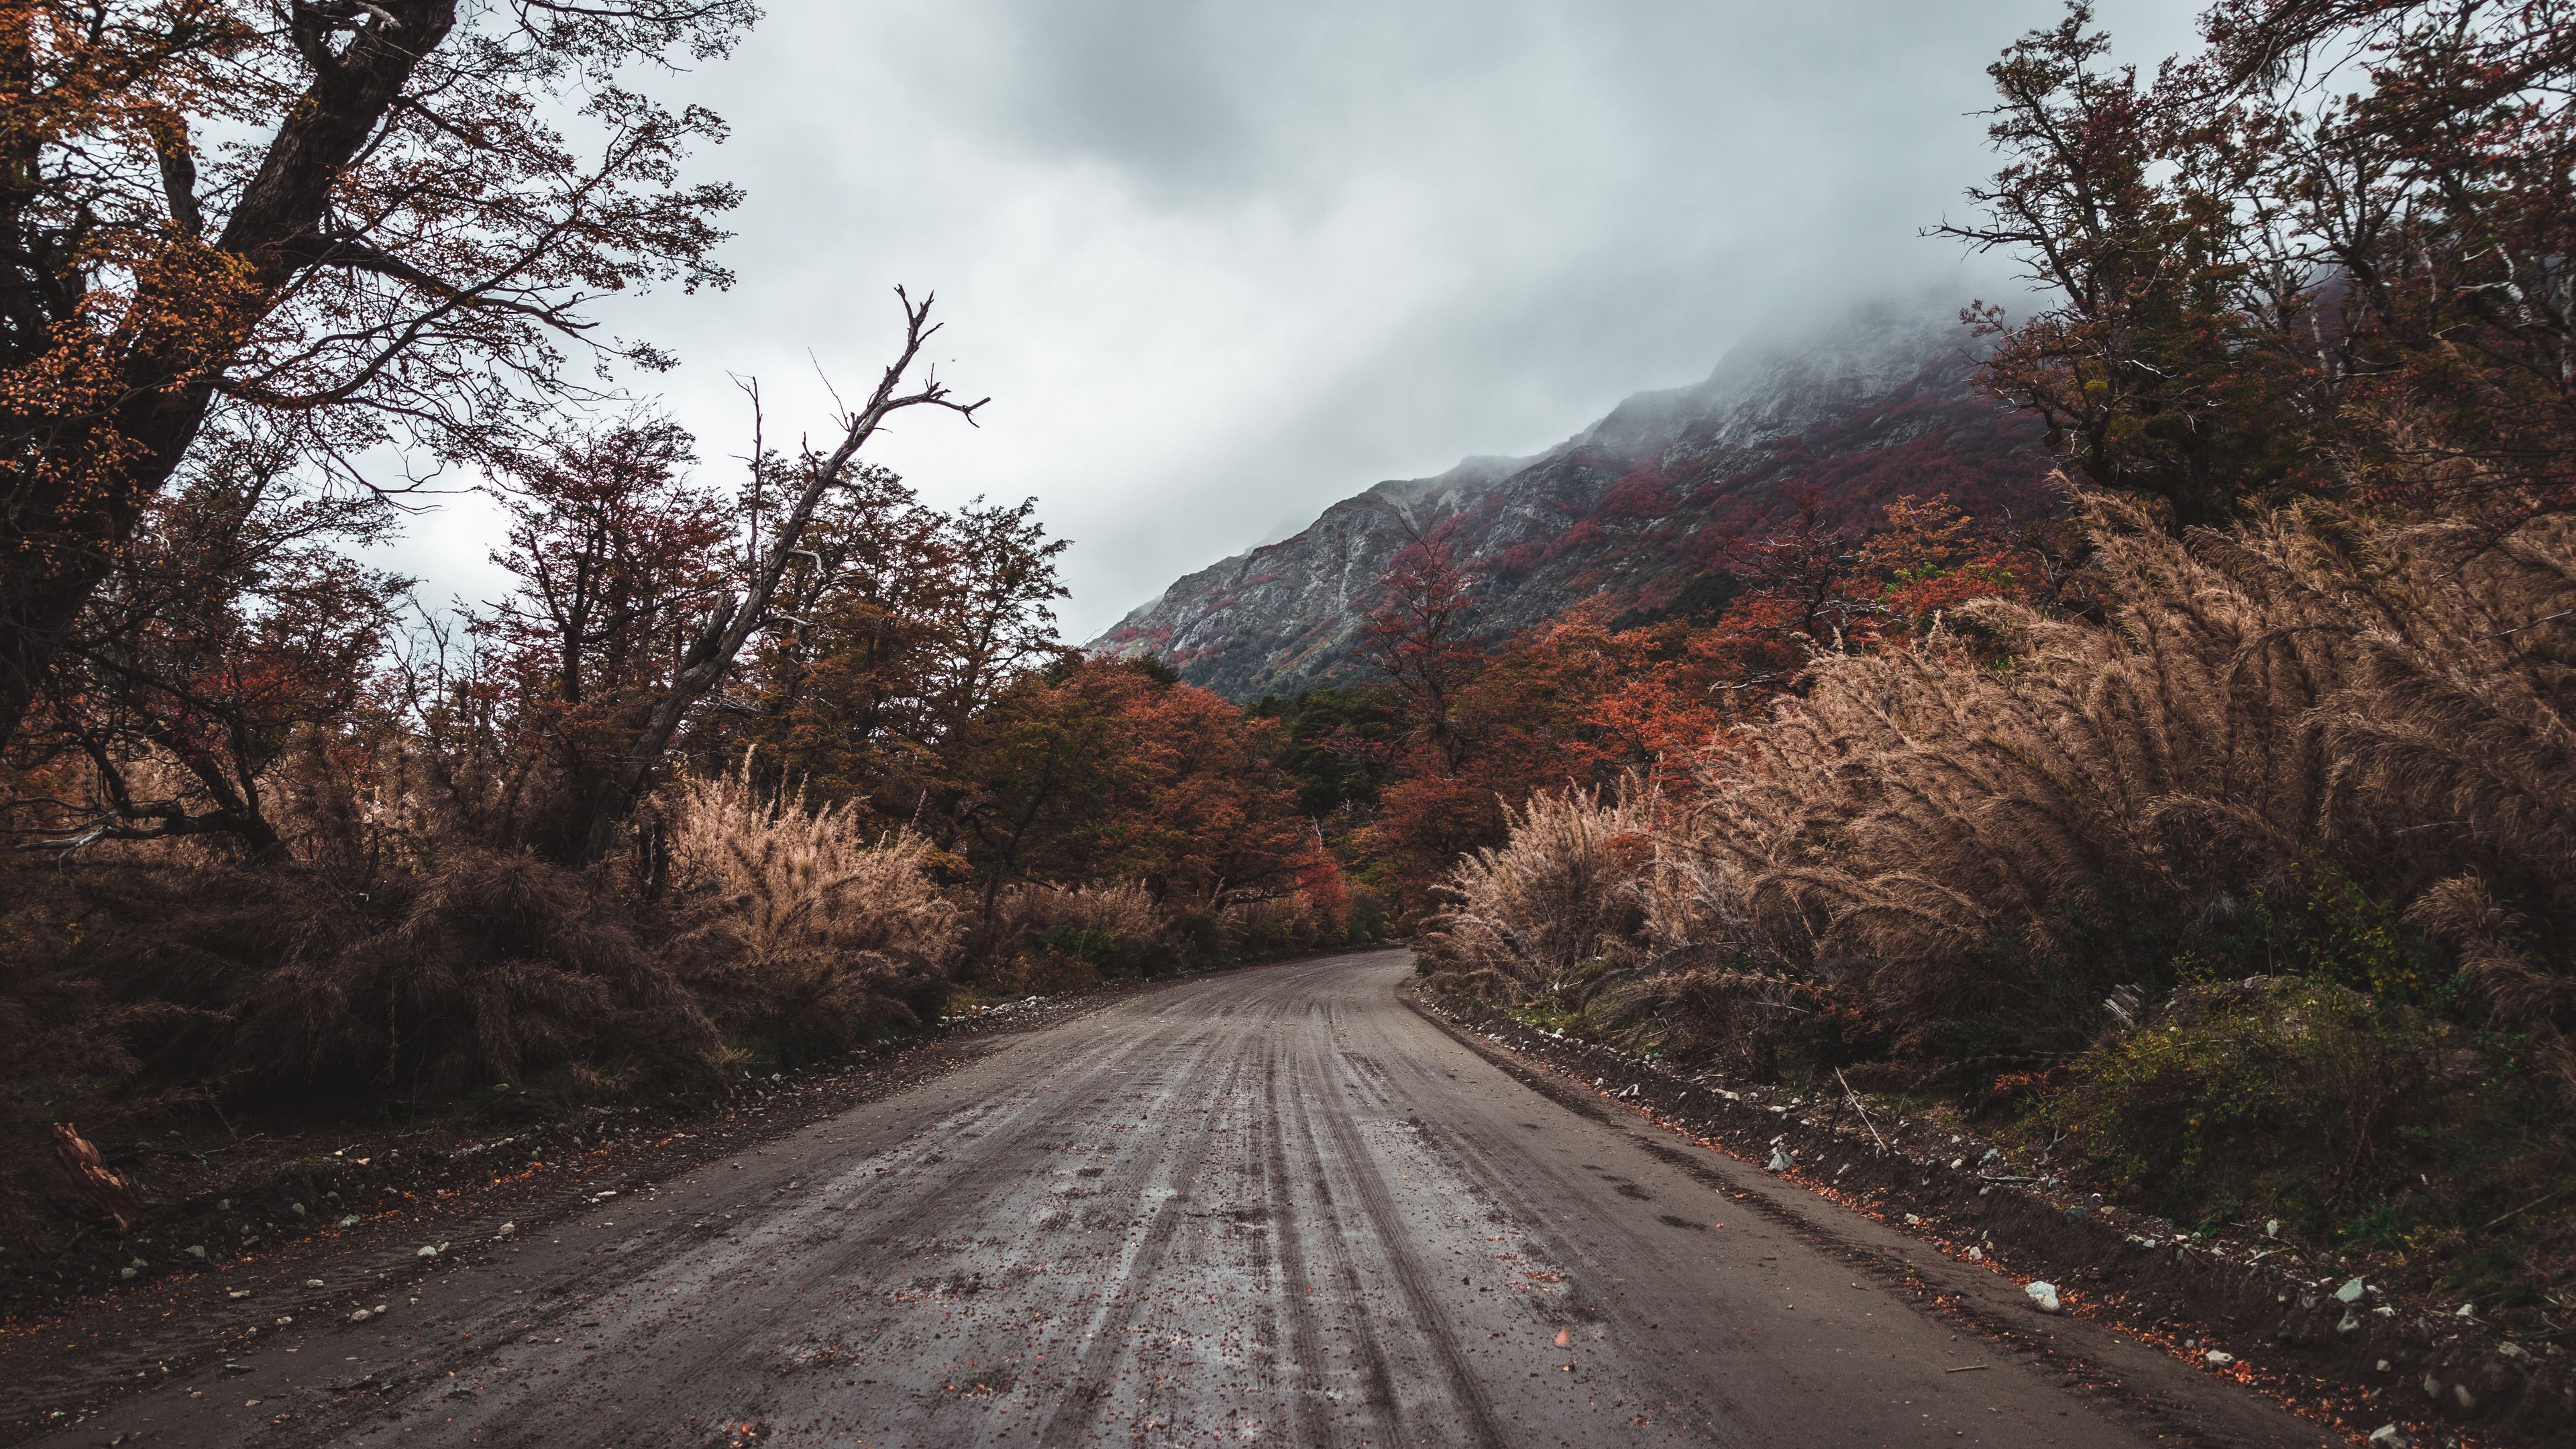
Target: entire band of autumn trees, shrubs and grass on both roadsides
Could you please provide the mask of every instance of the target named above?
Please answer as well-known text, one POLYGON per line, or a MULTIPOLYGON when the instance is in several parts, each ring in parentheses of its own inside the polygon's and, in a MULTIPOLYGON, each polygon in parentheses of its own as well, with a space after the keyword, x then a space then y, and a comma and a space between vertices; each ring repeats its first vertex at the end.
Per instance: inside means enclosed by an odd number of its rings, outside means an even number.
POLYGON ((585 309, 721 286, 739 201, 631 85, 747 3, 278 13, 0 5, 0 1220, 131 1209, 54 1124, 629 1101, 1404 933, 2568 1333, 2563 0, 2221 0, 2148 75, 2071 5, 1940 229, 2035 289, 1968 317, 2063 516, 1811 487, 1499 639, 1435 529, 1365 683, 1249 706, 1066 647, 1028 503, 868 462, 981 407, 927 297, 739 469, 603 389, 670 358, 585 309), (502 503, 507 596, 358 562, 394 446, 502 503))

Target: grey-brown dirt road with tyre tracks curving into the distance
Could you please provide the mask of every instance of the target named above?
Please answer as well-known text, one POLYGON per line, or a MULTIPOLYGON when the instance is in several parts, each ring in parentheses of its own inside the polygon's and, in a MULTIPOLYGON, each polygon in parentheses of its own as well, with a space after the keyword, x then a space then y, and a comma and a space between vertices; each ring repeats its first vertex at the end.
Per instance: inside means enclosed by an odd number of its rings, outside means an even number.
POLYGON ((1533 1091, 1404 975, 1236 972, 1015 1039, 46 1444, 2331 1441, 1533 1091))

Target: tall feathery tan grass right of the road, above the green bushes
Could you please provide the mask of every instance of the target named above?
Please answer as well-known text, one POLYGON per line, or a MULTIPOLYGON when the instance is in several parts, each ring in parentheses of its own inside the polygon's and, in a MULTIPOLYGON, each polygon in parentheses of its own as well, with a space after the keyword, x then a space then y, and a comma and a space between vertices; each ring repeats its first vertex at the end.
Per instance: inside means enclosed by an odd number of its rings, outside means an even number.
POLYGON ((2081 1042, 2169 967, 2105 954, 2105 915, 2223 915, 2324 866, 2576 1085, 2576 523, 2306 503, 2174 539, 2115 498, 2081 513, 2105 624, 1981 603, 2007 663, 1940 637, 1826 657, 1705 755, 1687 812, 1533 802, 1458 866, 1443 954, 1546 985, 1721 949, 1899 1034, 2022 1013, 2081 1042))

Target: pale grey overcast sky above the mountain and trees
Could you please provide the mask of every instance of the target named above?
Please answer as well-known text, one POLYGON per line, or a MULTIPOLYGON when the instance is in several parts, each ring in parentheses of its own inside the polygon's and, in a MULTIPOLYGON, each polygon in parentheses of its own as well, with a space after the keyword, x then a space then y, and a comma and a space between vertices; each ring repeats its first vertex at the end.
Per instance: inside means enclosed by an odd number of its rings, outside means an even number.
MULTIPOLYGON (((657 83, 724 113, 747 188, 726 294, 611 327, 729 482, 866 392, 889 289, 935 289, 981 428, 914 413, 878 462, 930 500, 1036 495, 1084 639, 1172 578, 1383 477, 1538 451, 1731 340, 1996 273, 1917 229, 1991 170, 1984 64, 2053 0, 765 0, 657 83), (811 353, 811 358, 809 358, 811 353)), ((2107 0, 2123 59, 2192 0, 2107 0)), ((953 361, 951 361, 953 358, 953 361)), ((399 552, 495 593, 489 513, 399 552)))

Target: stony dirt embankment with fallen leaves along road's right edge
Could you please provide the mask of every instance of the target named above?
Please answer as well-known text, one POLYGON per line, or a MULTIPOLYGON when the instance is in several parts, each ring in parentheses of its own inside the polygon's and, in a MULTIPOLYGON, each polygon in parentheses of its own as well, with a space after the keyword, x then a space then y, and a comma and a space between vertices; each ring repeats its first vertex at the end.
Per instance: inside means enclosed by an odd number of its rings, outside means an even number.
POLYGON ((2396 1426, 2378 1444, 2576 1444, 2576 1361, 2566 1351, 2514 1343, 2460 1305, 2385 1292, 2334 1253, 2182 1232, 2105 1204, 2045 1163, 2017 1163, 1953 1124, 1888 1116, 1839 1088, 1682 1075, 1473 1000, 1409 1000, 1950 1256, 2048 1281, 2069 1312, 2223 1364, 2293 1405, 2326 1405, 2344 1423, 2396 1426))

